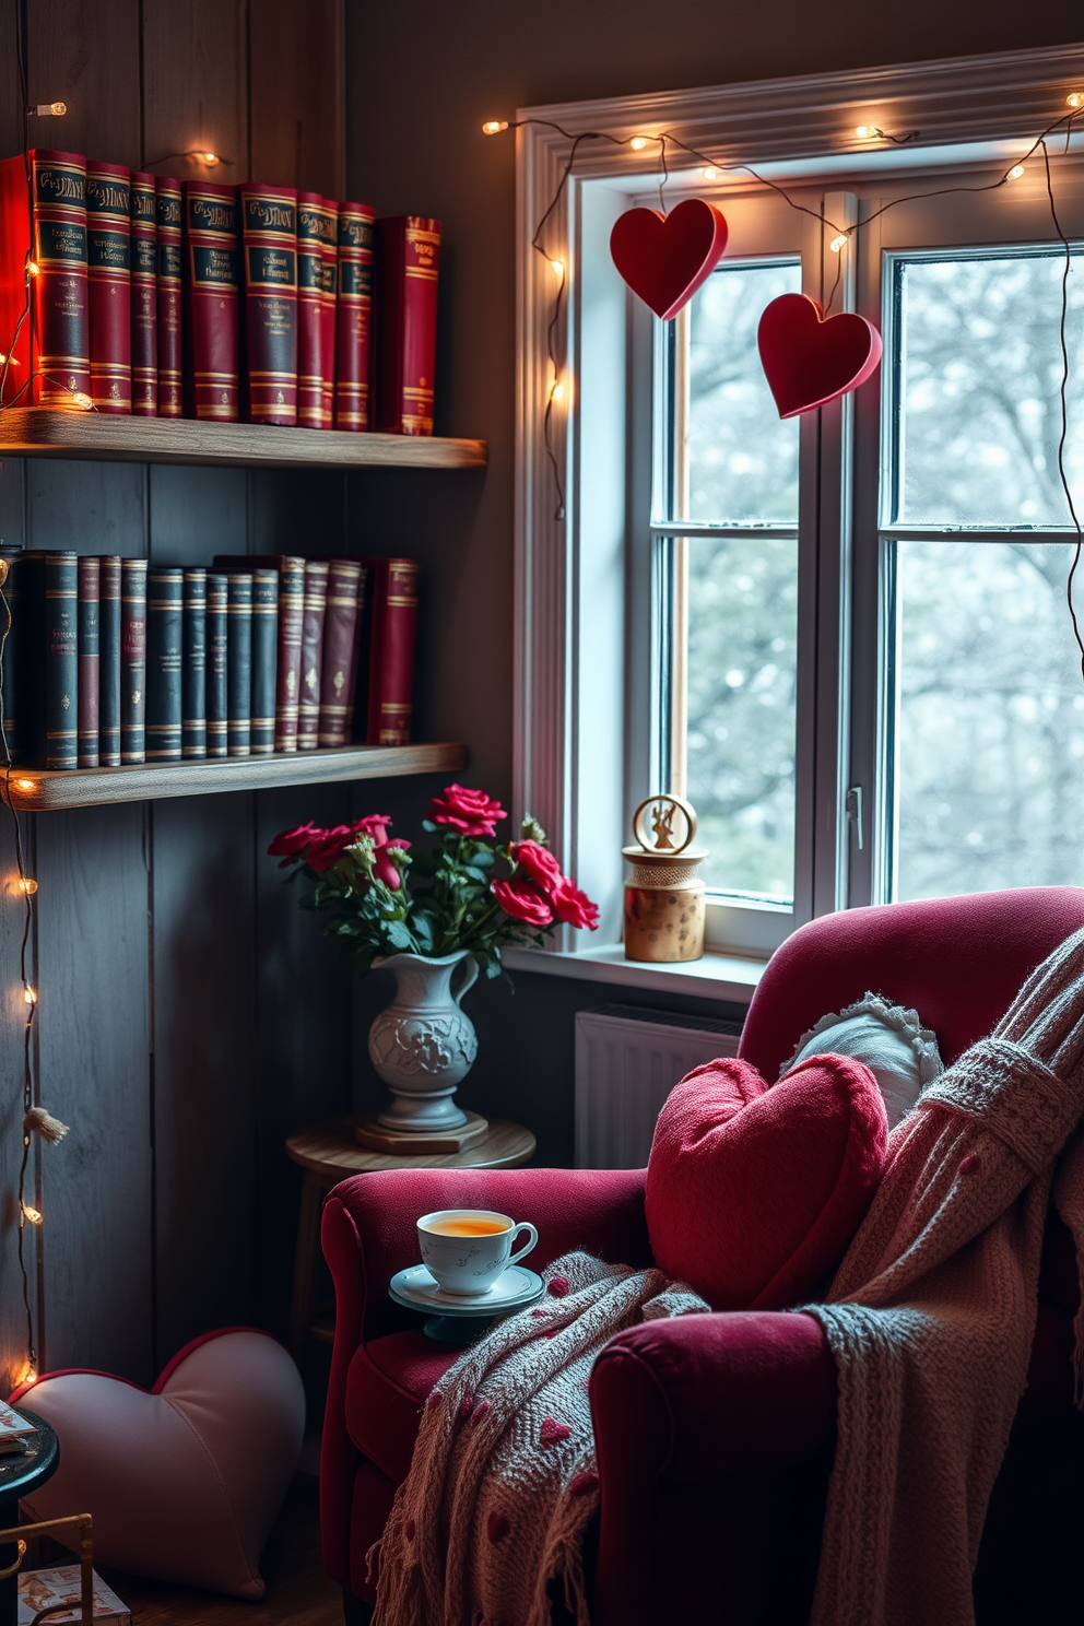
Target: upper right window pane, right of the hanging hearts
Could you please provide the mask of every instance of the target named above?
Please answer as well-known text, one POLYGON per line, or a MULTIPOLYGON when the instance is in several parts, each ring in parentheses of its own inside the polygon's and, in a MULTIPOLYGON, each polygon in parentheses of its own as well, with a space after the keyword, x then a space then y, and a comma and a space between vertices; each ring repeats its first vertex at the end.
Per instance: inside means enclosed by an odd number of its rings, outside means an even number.
MULTIPOLYGON (((897 265, 895 524, 1066 525, 1058 480, 1064 257, 897 265)), ((1084 481, 1084 260, 1073 257, 1069 483, 1084 481)))

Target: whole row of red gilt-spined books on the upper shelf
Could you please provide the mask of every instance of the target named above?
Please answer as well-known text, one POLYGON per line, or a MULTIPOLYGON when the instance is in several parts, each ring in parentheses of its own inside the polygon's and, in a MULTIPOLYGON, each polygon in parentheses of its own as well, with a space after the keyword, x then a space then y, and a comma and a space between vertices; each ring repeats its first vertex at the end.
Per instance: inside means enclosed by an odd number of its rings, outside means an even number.
POLYGON ((37 148, 0 163, 0 403, 432 434, 439 259, 437 220, 37 148))

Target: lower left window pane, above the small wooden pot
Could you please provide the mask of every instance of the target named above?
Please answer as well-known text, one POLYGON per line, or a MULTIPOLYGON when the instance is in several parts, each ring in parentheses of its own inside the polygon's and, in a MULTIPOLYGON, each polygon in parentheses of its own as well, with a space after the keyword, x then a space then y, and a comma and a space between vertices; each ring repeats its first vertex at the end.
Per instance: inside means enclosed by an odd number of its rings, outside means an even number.
POLYGON ((798 543, 691 538, 687 792, 709 886, 791 902, 798 543))

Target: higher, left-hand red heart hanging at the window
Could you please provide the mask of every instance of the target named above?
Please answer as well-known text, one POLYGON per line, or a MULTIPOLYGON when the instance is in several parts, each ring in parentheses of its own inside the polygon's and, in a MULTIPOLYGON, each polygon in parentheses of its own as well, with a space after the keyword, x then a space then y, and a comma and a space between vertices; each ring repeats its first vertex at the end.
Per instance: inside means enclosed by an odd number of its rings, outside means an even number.
POLYGON ((726 247, 726 218, 704 198, 686 198, 670 215, 631 208, 609 233, 609 254, 645 306, 670 322, 707 281, 726 247))

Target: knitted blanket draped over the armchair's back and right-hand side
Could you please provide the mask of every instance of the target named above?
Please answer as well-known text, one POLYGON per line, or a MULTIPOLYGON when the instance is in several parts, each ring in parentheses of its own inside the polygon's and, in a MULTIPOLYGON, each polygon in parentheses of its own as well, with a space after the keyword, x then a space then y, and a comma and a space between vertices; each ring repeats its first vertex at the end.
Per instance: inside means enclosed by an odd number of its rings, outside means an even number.
MULTIPOLYGON (((827 1304, 839 1441, 813 1626, 973 1626, 1053 1197, 1084 1259, 1084 932, 921 1096, 827 1304)), ((1084 1372, 1076 1325, 1077 1392, 1084 1372)))

